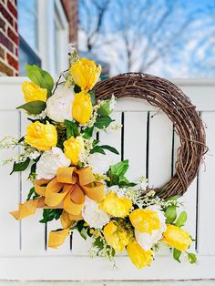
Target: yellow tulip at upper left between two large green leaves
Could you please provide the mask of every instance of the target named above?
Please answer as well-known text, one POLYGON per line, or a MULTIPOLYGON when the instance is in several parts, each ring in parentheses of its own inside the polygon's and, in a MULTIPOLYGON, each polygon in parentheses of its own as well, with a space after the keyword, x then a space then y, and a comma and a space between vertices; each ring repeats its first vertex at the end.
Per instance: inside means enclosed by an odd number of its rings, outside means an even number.
POLYGON ((33 82, 25 81, 22 84, 22 90, 24 93, 24 98, 26 102, 34 100, 42 100, 46 102, 47 98, 47 89, 37 86, 33 82))

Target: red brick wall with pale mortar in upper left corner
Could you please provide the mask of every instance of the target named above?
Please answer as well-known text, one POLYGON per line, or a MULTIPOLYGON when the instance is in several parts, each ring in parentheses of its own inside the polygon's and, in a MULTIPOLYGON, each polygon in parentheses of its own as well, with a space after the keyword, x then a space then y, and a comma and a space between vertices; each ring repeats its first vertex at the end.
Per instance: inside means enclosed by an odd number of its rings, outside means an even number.
POLYGON ((0 0, 0 76, 18 76, 16 0, 0 0))

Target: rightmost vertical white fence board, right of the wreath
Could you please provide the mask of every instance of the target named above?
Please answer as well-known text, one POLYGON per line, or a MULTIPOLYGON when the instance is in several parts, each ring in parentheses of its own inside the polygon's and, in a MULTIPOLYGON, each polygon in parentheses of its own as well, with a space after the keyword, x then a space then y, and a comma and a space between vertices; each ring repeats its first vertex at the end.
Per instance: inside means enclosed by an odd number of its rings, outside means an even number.
POLYGON ((215 112, 203 112, 202 120, 207 126, 206 143, 209 152, 200 169, 198 250, 203 254, 215 254, 214 228, 214 170, 215 170, 215 112))

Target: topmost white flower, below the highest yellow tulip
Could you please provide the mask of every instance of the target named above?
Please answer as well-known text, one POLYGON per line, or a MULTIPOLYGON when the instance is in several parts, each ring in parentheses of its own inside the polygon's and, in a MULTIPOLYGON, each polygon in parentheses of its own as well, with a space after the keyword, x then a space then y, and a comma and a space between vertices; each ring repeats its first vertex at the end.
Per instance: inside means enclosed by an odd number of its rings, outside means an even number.
POLYGON ((72 120, 72 105, 75 97, 73 88, 57 87, 55 94, 46 102, 47 117, 56 122, 72 120))

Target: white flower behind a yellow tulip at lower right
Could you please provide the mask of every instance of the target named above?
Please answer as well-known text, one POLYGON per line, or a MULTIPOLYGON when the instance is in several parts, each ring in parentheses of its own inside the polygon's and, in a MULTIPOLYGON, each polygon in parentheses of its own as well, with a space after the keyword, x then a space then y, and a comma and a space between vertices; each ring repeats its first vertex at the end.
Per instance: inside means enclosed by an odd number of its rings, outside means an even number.
POLYGON ((143 248, 144 250, 150 250, 155 243, 161 240, 163 232, 167 230, 167 226, 165 222, 166 217, 164 215, 164 212, 159 209, 158 205, 152 205, 147 207, 146 209, 154 210, 157 212, 159 216, 159 230, 152 230, 151 234, 135 230, 135 238, 141 248, 143 248))

